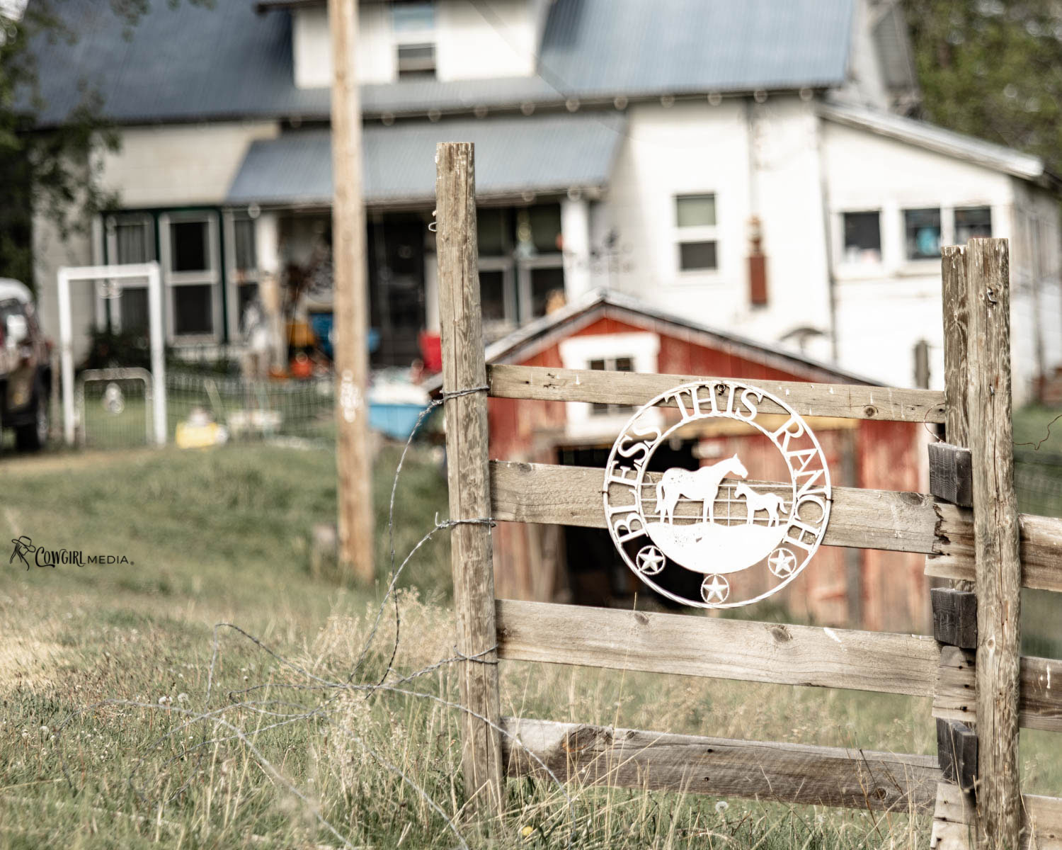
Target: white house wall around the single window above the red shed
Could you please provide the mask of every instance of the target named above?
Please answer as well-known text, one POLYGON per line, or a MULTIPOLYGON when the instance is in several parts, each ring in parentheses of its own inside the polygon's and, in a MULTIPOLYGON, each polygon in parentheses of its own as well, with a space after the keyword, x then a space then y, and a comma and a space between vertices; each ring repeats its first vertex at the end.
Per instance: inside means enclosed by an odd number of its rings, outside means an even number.
MULTIPOLYGON (((612 286, 661 308, 768 342, 800 327, 828 334, 825 238, 816 119, 796 98, 750 109, 707 100, 632 106, 595 234, 619 232, 612 286), (716 196, 718 270, 680 271, 674 198, 716 196), (749 305, 749 219, 763 221, 769 304, 749 305)), ((599 237, 596 237, 599 238, 599 237)), ((825 355, 817 348, 815 356, 825 355)))

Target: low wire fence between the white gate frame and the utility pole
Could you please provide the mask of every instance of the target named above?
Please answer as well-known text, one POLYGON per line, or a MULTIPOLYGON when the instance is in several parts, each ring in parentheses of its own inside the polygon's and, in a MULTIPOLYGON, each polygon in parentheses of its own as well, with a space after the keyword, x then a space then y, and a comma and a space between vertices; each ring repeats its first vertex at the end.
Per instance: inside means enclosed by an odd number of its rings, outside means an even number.
POLYGON ((168 439, 178 445, 336 437, 331 377, 272 381, 171 371, 166 393, 168 439))

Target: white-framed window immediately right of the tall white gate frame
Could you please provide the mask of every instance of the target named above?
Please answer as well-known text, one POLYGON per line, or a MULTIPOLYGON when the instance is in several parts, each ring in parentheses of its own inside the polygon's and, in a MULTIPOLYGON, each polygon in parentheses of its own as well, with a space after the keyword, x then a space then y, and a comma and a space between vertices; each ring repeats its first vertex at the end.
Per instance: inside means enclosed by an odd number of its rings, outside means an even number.
POLYGON ((221 274, 215 216, 162 215, 159 231, 170 337, 217 339, 221 274))

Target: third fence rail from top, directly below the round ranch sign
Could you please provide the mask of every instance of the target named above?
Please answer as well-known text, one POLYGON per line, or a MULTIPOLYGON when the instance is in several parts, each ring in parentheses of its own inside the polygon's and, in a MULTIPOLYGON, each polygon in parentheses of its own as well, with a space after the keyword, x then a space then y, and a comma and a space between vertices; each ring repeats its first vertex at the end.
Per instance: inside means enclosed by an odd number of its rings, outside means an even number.
MULTIPOLYGON (((919 634, 513 599, 498 599, 495 617, 510 661, 933 697, 936 717, 975 717, 973 653, 919 634)), ((1062 732, 1060 682, 1062 661, 1022 657, 1024 728, 1062 732)))

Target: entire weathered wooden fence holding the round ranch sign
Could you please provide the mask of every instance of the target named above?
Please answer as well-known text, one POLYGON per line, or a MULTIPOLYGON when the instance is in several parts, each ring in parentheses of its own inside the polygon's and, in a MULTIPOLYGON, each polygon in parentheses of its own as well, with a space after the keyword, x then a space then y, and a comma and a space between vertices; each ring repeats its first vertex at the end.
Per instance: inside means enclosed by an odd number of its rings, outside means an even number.
POLYGON ((1021 657, 1018 645, 1021 588, 1062 592, 1062 521, 1015 508, 1007 241, 945 249, 944 392, 761 385, 801 414, 942 423, 950 444, 970 449, 975 509, 923 493, 835 488, 823 541, 924 552, 928 575, 956 582, 935 592, 935 638, 496 599, 484 520, 604 527, 605 517, 601 470, 489 460, 486 396, 643 405, 710 378, 487 369, 473 146, 440 144, 436 166, 469 796, 498 810, 506 776, 547 776, 545 764, 583 783, 932 813, 938 848, 1062 848, 1062 799, 1022 796, 1018 786, 1018 728, 1062 731, 1062 662, 1021 657), (498 667, 490 663, 497 659, 929 696, 940 751, 897 755, 501 717, 498 667))

